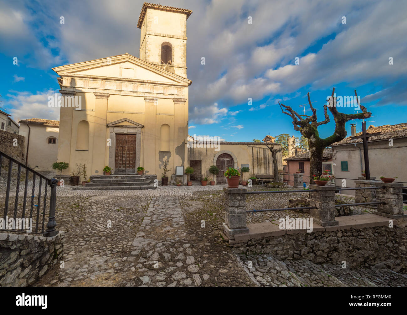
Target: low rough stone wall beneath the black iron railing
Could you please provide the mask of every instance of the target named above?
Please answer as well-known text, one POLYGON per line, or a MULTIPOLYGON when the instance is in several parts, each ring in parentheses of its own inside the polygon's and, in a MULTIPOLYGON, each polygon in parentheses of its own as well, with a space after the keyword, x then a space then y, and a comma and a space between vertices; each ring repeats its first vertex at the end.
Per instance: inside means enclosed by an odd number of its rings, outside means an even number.
POLYGON ((0 233, 0 286, 28 286, 63 253, 63 232, 53 237, 0 233))

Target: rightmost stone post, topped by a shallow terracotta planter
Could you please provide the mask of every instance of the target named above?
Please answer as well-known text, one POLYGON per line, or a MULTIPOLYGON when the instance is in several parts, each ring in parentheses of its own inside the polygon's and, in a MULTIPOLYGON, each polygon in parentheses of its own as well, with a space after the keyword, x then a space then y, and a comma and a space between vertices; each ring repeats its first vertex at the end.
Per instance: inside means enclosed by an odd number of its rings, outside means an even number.
POLYGON ((403 211, 403 184, 376 183, 376 186, 382 187, 376 189, 376 200, 385 204, 377 205, 377 211, 374 213, 392 219, 407 218, 403 211))

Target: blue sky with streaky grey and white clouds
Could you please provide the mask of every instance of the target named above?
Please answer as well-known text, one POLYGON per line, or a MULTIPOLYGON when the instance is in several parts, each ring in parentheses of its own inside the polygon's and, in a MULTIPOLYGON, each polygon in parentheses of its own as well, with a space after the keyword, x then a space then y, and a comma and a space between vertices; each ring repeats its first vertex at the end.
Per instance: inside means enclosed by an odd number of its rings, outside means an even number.
MULTIPOLYGON (((14 119, 59 119, 59 113, 47 106, 48 95, 59 89, 51 68, 125 52, 138 57, 136 22, 142 3, 1 2, 0 106, 14 119)), ((226 141, 281 133, 300 136, 277 102, 303 113, 298 106, 308 102, 310 92, 323 120, 323 105, 332 87, 337 96, 351 96, 357 90, 372 112, 368 125, 407 121, 405 1, 235 0, 232 5, 166 0, 160 4, 193 10, 187 22, 187 74, 193 81, 191 135, 220 136, 226 141), (247 104, 249 98, 252 106, 247 104)), ((354 108, 339 110, 354 112, 354 108)), ((360 121, 356 123, 361 128, 360 121)), ((327 137, 333 128, 331 121, 319 132, 327 137)))

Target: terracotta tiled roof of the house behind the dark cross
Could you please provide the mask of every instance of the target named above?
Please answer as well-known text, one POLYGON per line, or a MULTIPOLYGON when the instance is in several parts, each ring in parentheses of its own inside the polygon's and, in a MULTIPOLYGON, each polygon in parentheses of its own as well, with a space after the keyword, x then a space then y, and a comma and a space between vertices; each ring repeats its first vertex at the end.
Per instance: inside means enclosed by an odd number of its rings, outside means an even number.
MULTIPOLYGON (((370 126, 368 130, 366 130, 368 133, 374 133, 374 132, 381 132, 379 136, 374 136, 370 137, 368 141, 378 141, 378 140, 387 140, 387 139, 392 139, 392 138, 403 138, 407 137, 407 123, 399 123, 397 125, 384 125, 384 126, 370 126)), ((356 135, 360 136, 362 132, 358 132, 356 135)), ((352 144, 352 143, 360 143, 362 142, 362 139, 350 139, 350 137, 347 137, 341 141, 332 143, 332 145, 341 145, 341 144, 352 144)))

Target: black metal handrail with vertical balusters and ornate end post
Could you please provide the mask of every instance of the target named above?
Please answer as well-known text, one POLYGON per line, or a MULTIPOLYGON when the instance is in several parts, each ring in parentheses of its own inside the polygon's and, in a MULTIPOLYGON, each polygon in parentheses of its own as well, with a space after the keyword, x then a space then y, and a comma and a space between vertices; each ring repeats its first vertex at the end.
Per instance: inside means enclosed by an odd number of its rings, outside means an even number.
MULTIPOLYGON (((17 170, 17 183, 15 186, 15 202, 14 202, 14 211, 13 211, 13 219, 14 219, 14 224, 17 222, 17 212, 18 212, 18 198, 19 198, 19 193, 20 193, 20 176, 21 176, 21 169, 24 167, 26 169, 26 174, 25 174, 25 186, 24 186, 24 200, 23 200, 23 209, 22 209, 22 218, 18 218, 19 222, 26 222, 27 219, 33 219, 33 210, 34 206, 37 207, 37 216, 35 219, 35 232, 31 231, 31 233, 42 233, 46 237, 50 236, 55 236, 58 233, 58 230, 56 229, 57 222, 55 221, 55 207, 56 207, 56 195, 57 195, 57 183, 58 180, 56 178, 49 179, 46 176, 36 172, 33 170, 31 167, 28 167, 24 165, 23 163, 19 162, 18 160, 14 159, 13 157, 9 156, 8 154, 5 154, 4 152, 0 151, 0 174, 2 171, 2 160, 3 157, 6 159, 9 159, 9 170, 7 174, 7 187, 6 187, 6 198, 5 198, 5 203, 4 203, 4 215, 3 219, 5 222, 5 228, 2 229, 0 227, 0 230, 2 231, 12 231, 12 232, 23 232, 23 224, 21 226, 21 229, 16 229, 15 225, 13 226, 13 229, 7 229, 8 228, 8 220, 6 220, 9 212, 9 198, 10 198, 10 186, 11 186, 11 176, 12 176, 12 169, 13 169, 13 163, 16 163, 18 165, 18 170, 17 170), (26 204, 27 204, 27 191, 28 191, 28 175, 29 172, 33 173, 33 183, 32 183, 32 191, 31 191, 31 206, 30 206, 30 214, 29 217, 26 218, 26 204), (37 205, 35 205, 34 201, 34 193, 35 193, 35 177, 39 176, 39 187, 38 187, 38 201, 37 205), (41 188, 42 188, 42 180, 45 180, 45 191, 44 191, 44 205, 43 205, 43 214, 42 214, 42 227, 41 227, 41 232, 38 231, 39 227, 39 211, 40 211, 40 206, 41 206, 41 188), (50 188, 50 201, 49 201, 49 217, 48 217, 48 223, 46 225, 47 229, 44 231, 44 226, 45 226, 45 212, 46 212, 46 202, 47 202, 47 188, 48 185, 51 187, 50 188), (24 220, 24 221, 23 221, 24 220)), ((32 228, 32 226, 31 226, 32 228)), ((30 233, 29 231, 26 231, 27 233, 30 233)))

